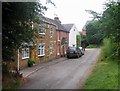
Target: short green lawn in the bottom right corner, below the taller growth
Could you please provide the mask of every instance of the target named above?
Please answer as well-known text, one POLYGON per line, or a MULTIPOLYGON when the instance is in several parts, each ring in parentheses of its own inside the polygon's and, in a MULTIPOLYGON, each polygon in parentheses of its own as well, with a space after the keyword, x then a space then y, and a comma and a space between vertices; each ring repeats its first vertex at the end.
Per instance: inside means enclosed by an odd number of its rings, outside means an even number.
POLYGON ((99 61, 83 89, 118 89, 118 63, 99 61))

